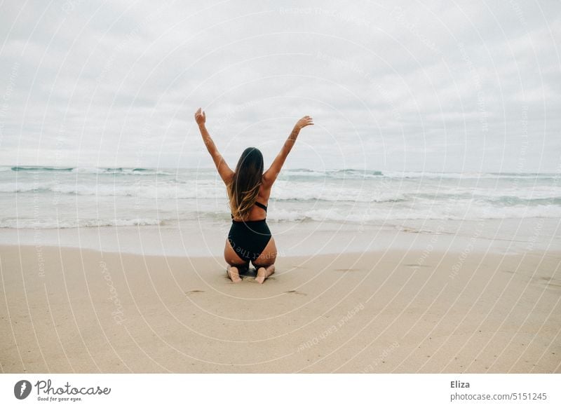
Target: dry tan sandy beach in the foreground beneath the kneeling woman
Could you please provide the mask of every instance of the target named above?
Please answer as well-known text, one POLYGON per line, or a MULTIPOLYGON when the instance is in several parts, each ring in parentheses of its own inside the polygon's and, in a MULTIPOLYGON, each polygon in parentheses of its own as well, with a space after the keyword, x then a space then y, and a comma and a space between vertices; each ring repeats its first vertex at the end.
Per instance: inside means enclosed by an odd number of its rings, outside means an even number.
POLYGON ((222 257, 0 247, 2 372, 561 372, 560 251, 222 257))

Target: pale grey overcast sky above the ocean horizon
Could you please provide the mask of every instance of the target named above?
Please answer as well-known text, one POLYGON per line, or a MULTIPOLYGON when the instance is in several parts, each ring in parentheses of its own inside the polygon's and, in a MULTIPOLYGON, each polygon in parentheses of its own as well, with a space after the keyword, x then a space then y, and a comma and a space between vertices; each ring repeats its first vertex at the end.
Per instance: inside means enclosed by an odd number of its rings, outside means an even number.
POLYGON ((561 171, 560 1, 280 3, 4 1, 0 163, 561 171))

